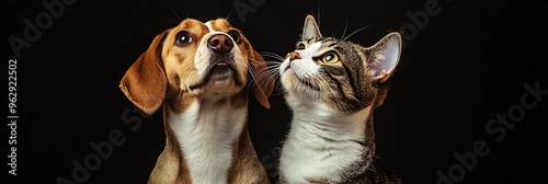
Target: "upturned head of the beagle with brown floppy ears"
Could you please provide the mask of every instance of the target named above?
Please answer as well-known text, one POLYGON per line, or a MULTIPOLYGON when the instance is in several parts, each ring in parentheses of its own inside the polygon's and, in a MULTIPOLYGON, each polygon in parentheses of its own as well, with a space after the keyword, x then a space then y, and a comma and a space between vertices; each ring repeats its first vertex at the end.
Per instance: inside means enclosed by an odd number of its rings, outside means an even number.
POLYGON ((226 20, 186 19, 156 36, 126 71, 119 88, 135 105, 152 114, 170 96, 176 101, 182 95, 231 96, 251 82, 253 94, 270 108, 274 80, 266 71, 261 55, 226 20))

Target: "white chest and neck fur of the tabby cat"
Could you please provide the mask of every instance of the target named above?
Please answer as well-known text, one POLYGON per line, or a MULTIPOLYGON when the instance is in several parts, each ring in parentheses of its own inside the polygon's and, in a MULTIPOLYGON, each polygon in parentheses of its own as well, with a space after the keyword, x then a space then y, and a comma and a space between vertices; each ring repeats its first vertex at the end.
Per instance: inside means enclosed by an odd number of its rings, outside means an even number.
POLYGON ((342 181, 342 172, 362 161, 364 148, 356 141, 365 138, 370 107, 336 117, 323 104, 293 103, 295 116, 279 160, 285 180, 292 184, 308 183, 307 179, 342 181))

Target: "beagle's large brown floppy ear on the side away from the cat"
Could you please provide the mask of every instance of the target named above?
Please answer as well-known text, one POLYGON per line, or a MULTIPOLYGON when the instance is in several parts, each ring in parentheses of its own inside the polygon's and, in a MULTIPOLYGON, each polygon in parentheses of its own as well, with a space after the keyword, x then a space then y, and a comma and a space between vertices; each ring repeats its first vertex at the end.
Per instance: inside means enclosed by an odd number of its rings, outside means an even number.
POLYGON ((168 91, 161 59, 163 39, 168 33, 164 31, 156 36, 148 50, 140 55, 119 81, 119 89, 126 97, 149 115, 160 108, 168 91))

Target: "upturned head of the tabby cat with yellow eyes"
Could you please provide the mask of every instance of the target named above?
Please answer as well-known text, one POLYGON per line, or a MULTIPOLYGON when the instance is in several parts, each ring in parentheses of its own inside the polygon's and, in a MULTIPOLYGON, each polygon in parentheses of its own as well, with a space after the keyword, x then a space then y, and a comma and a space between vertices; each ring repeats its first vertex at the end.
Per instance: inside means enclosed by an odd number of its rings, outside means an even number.
POLYGON ((379 106, 401 53, 401 36, 390 33, 370 47, 323 37, 308 15, 301 41, 279 68, 289 106, 327 105, 340 113, 379 106))

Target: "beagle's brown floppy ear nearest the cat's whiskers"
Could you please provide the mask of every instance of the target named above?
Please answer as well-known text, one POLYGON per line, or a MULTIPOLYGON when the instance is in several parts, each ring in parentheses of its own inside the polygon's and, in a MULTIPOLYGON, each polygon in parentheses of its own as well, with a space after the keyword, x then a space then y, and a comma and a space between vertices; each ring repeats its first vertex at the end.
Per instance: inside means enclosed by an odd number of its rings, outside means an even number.
POLYGON ((274 90, 274 78, 270 74, 266 61, 264 61, 259 53, 253 50, 249 57, 251 67, 253 68, 253 80, 255 80, 252 83, 251 90, 261 105, 270 110, 271 104, 269 103, 269 96, 274 90))

